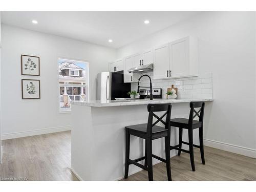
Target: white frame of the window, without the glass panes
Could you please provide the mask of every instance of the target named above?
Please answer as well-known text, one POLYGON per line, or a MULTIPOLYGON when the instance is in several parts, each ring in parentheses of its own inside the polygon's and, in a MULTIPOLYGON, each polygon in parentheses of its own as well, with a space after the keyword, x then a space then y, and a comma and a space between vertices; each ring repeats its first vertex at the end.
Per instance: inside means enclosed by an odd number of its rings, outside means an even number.
MULTIPOLYGON (((90 100, 90 78, 89 78, 89 66, 90 66, 90 61, 89 60, 83 60, 83 59, 73 59, 73 58, 66 58, 66 57, 57 57, 57 114, 61 114, 61 113, 71 113, 71 108, 69 110, 65 110, 65 111, 61 111, 60 110, 60 102, 59 102, 59 90, 60 90, 60 87, 63 87, 63 84, 59 84, 59 65, 58 65, 58 61, 59 59, 62 59, 62 60, 66 60, 66 61, 70 61, 70 62, 85 62, 86 63, 86 86, 84 86, 86 88, 86 98, 85 98, 85 101, 89 101, 90 100)), ((79 71, 79 70, 78 70, 79 71)), ((69 85, 68 87, 73 87, 71 85, 69 85)), ((74 86, 74 87, 77 87, 77 86, 74 86)))

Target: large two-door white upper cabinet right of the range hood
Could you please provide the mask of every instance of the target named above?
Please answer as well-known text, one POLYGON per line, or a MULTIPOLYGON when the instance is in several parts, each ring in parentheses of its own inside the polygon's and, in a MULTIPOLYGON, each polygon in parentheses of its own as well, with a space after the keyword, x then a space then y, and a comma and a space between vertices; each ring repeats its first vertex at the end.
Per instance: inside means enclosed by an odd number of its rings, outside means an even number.
POLYGON ((185 37, 154 48, 154 79, 198 75, 197 39, 185 37), (168 59, 166 57, 168 50, 168 59), (168 60, 168 62, 167 62, 168 60))

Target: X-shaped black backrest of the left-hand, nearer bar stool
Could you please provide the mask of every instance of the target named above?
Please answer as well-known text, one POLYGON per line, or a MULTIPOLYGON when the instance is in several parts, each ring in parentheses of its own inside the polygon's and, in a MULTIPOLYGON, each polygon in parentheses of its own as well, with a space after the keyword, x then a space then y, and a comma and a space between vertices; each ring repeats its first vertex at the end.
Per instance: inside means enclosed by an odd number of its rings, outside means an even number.
POLYGON ((148 114, 148 120, 147 120, 147 134, 152 135, 152 127, 155 126, 158 122, 162 122, 165 125, 165 129, 170 128, 170 112, 172 110, 172 105, 170 103, 166 104, 148 104, 147 105, 147 111, 150 112, 148 114), (158 117, 154 112, 162 112, 165 111, 165 113, 158 117), (166 120, 163 121, 163 118, 166 116, 166 120), (155 117, 157 120, 153 123, 153 117, 155 117))

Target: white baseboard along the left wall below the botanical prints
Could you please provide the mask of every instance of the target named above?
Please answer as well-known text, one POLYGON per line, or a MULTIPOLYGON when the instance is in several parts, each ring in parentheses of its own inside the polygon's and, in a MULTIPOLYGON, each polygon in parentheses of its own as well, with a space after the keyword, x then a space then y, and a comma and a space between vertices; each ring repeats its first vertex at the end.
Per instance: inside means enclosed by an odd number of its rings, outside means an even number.
POLYGON ((6 140, 6 139, 19 138, 19 137, 28 137, 28 136, 34 136, 34 135, 70 131, 70 130, 71 130, 71 126, 69 125, 69 126, 51 127, 46 129, 38 129, 33 131, 7 133, 7 134, 2 134, 1 136, 2 136, 2 140, 6 140))

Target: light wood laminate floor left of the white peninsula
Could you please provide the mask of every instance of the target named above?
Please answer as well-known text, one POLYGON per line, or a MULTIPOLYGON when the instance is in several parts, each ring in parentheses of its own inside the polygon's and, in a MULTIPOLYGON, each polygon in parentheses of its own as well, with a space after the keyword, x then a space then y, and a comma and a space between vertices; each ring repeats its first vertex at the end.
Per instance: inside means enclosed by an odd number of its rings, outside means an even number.
POLYGON ((71 172, 71 132, 3 140, 1 179, 77 180, 71 172))

